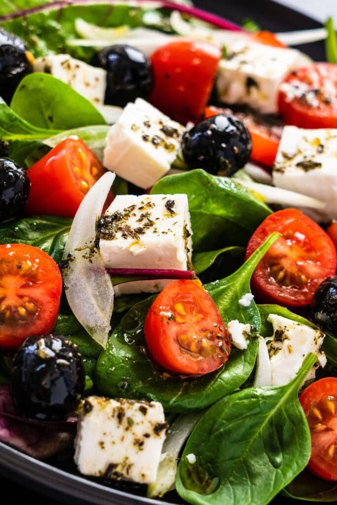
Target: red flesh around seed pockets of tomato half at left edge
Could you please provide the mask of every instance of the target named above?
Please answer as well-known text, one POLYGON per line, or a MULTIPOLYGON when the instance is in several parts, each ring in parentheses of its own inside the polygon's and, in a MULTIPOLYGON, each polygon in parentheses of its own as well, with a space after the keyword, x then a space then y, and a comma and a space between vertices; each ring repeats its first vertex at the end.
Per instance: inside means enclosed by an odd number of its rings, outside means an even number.
MULTIPOLYGON (((39 314, 30 325, 0 325, 0 348, 7 350, 17 349, 28 337, 47 335, 52 332, 57 321, 62 292, 61 272, 53 258, 47 255, 46 252, 27 244, 0 245, 0 262, 1 260, 12 262, 13 258, 18 262, 29 260, 33 265, 36 264, 37 260, 38 283, 32 287, 19 286, 17 279, 20 274, 16 273, 15 276, 10 276, 4 294, 14 300, 14 305, 15 301, 18 300, 21 304, 23 296, 28 297, 29 301, 33 301, 39 307, 39 314), (10 256, 11 253, 13 256, 10 256)), ((6 282, 6 278, 9 278, 9 276, 6 273, 2 276, 0 269, 0 292, 2 281, 5 280, 6 282)), ((6 301, 6 298, 2 302, 4 301, 6 301)))

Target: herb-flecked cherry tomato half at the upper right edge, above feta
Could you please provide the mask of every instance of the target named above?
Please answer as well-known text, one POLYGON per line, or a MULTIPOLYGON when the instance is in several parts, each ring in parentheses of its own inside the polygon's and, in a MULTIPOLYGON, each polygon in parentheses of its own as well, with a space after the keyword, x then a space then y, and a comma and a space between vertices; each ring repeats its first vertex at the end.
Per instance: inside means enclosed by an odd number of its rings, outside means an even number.
MULTIPOLYGON (((299 128, 337 128, 337 65, 332 63, 314 63, 310 67, 303 67, 291 72, 283 83, 298 82, 308 85, 308 90, 320 90, 325 85, 329 103, 324 102, 320 93, 318 107, 309 106, 305 99, 298 97, 288 99, 282 90, 278 94, 278 111, 285 124, 299 128), (331 93, 331 89, 335 92, 331 93)), ((282 86, 282 85, 281 85, 282 86)))

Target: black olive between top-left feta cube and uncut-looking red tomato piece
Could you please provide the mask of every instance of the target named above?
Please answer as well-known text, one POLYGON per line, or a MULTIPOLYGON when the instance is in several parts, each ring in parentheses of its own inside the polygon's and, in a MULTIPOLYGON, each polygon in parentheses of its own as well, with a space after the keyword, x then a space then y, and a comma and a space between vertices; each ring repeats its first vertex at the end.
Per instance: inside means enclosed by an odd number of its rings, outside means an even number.
POLYGON ((102 49, 91 61, 107 71, 105 103, 125 107, 135 98, 147 98, 153 88, 150 60, 129 45, 112 45, 102 49))

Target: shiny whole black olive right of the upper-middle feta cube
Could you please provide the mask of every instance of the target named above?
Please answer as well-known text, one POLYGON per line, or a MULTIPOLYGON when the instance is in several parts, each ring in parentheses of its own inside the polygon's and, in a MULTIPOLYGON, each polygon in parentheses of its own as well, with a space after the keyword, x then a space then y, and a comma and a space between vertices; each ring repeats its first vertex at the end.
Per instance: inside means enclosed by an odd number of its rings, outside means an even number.
POLYGON ((218 114, 186 131, 181 147, 189 168, 230 176, 248 162, 252 140, 242 121, 218 114))

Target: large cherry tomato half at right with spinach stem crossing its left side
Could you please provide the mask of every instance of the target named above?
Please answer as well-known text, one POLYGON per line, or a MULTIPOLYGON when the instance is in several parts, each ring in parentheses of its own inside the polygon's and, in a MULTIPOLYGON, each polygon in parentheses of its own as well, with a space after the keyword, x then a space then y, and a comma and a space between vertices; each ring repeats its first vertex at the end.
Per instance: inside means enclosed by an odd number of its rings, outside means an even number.
POLYGON ((336 251, 315 221, 296 209, 268 216, 248 242, 246 259, 273 232, 282 236, 267 251, 252 276, 252 290, 267 303, 286 307, 310 304, 319 284, 334 275, 336 251))

